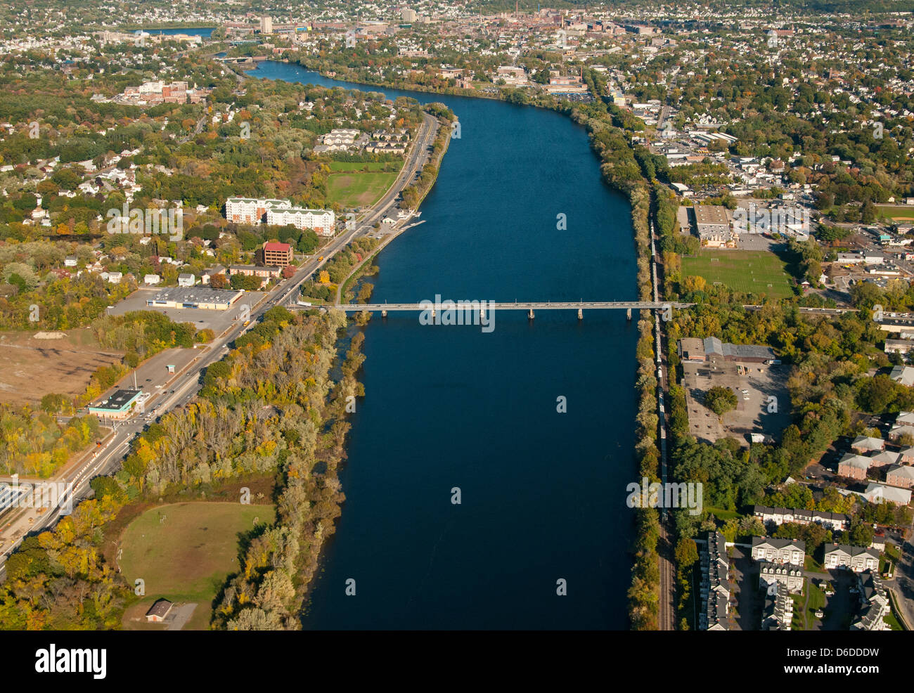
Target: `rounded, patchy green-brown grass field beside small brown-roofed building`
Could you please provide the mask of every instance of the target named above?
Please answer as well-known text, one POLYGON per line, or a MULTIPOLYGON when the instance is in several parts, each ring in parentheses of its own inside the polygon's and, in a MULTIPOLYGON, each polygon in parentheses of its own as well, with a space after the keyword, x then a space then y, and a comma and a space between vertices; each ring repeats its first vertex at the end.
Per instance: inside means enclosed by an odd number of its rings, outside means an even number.
POLYGON ((250 530, 255 518, 271 523, 274 515, 272 506, 197 502, 154 507, 134 519, 122 534, 118 563, 128 584, 143 580, 146 599, 124 614, 124 626, 135 627, 132 619, 165 597, 197 602, 185 630, 206 629, 212 601, 239 570, 239 533, 250 530))

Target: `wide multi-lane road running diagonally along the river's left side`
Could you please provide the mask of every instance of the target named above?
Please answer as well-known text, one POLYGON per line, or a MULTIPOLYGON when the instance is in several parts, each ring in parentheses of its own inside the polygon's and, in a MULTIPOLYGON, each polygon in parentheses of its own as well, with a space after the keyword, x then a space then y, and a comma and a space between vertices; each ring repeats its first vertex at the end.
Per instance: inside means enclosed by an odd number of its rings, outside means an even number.
MULTIPOLYGON (((302 283, 319 270, 327 261, 345 248, 352 240, 374 230, 374 224, 383 219, 390 208, 393 208, 399 198, 400 191, 414 182, 419 176, 421 168, 430 156, 430 145, 434 142, 438 130, 438 120, 428 113, 423 113, 422 124, 407 155, 406 162, 400 170, 399 176, 388 192, 377 203, 368 209, 351 229, 346 229, 339 236, 331 240, 323 249, 320 257, 305 261, 302 267, 292 276, 276 286, 270 293, 265 294, 260 303, 252 306, 250 312, 250 325, 229 326, 221 335, 217 336, 209 345, 207 351, 197 357, 191 364, 180 372, 171 385, 171 389, 154 393, 144 403, 144 409, 157 409, 156 416, 162 416, 168 411, 186 405, 192 400, 202 385, 202 375, 207 367, 224 357, 228 345, 237 337, 250 329, 260 317, 276 305, 287 306, 293 304, 302 283), (323 258, 323 259, 322 259, 323 258)), ((88 453, 85 461, 72 465, 72 468, 59 474, 49 481, 72 484, 71 497, 75 506, 80 500, 90 495, 90 481, 102 474, 112 474, 120 467, 122 459, 130 450, 133 438, 148 424, 146 417, 134 416, 126 421, 116 422, 111 435, 103 442, 100 450, 88 453)), ((37 533, 44 528, 51 527, 61 516, 61 506, 39 513, 38 508, 18 508, 10 510, 3 516, 4 523, 9 523, 5 528, 6 543, 0 547, 0 581, 5 579, 5 562, 9 554, 22 543, 29 534, 37 533)))

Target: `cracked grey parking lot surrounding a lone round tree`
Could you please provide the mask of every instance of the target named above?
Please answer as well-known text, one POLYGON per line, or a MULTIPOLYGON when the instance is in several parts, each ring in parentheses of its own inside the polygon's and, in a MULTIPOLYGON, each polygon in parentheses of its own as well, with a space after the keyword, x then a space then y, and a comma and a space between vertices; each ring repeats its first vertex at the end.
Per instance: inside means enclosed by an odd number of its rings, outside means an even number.
POLYGON ((689 432, 706 442, 732 436, 745 446, 749 445, 749 433, 778 436, 790 423, 790 394, 785 387, 788 368, 738 364, 721 358, 701 364, 684 362, 689 432), (704 405, 707 391, 717 386, 732 389, 737 395, 737 408, 723 417, 704 405), (771 397, 775 400, 770 400, 771 397), (772 405, 776 405, 776 410, 771 410, 775 409, 772 405))

